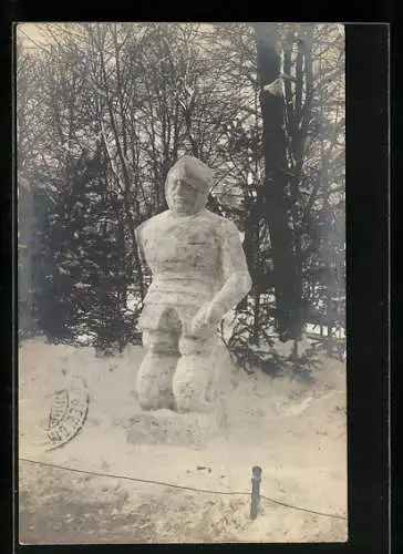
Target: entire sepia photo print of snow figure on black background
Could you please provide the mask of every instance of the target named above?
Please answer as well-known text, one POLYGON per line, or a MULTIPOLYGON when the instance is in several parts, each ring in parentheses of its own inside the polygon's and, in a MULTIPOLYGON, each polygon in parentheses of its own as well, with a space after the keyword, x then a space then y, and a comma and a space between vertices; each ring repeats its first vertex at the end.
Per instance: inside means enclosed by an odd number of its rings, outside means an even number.
POLYGON ((345 542, 344 25, 14 40, 19 543, 345 542))

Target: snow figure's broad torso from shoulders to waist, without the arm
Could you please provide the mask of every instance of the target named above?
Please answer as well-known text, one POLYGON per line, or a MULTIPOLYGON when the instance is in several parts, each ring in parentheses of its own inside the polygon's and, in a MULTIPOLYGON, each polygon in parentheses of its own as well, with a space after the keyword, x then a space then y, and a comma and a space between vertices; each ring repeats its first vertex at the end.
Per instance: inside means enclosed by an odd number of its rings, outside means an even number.
POLYGON ((223 285, 226 224, 207 209, 182 217, 166 211, 145 222, 138 240, 153 275, 145 304, 200 306, 210 300, 223 285))

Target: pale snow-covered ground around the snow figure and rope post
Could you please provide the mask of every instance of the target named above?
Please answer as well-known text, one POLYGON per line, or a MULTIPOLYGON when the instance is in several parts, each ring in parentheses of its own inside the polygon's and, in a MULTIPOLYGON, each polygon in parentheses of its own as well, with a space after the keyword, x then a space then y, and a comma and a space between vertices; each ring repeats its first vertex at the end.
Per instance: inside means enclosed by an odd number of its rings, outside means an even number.
MULTIPOLYGON (((20 541, 37 543, 334 542, 347 521, 261 499, 249 519, 249 495, 177 490, 69 472, 33 463, 249 493, 251 468, 262 468, 261 494, 294 506, 347 516, 345 367, 324 356, 304 381, 232 370, 225 391, 227 427, 203 448, 128 443, 141 414, 133 392, 144 356, 96 358, 91 348, 20 343, 20 541), (90 392, 82 431, 45 451, 44 427, 54 390, 80 376, 90 392), (25 461, 22 461, 24 459, 25 461), (30 460, 30 461, 27 461, 30 460)), ((228 370, 229 371, 229 370, 228 370)))

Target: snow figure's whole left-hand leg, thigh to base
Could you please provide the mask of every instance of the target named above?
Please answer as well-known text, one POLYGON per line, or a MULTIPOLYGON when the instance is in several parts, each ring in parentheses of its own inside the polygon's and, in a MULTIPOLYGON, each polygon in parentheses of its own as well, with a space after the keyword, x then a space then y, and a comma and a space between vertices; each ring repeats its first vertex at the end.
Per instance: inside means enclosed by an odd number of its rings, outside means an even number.
POLYGON ((164 312, 157 330, 143 330, 148 352, 137 376, 137 398, 143 410, 174 408, 173 376, 179 357, 179 321, 170 310, 164 312))

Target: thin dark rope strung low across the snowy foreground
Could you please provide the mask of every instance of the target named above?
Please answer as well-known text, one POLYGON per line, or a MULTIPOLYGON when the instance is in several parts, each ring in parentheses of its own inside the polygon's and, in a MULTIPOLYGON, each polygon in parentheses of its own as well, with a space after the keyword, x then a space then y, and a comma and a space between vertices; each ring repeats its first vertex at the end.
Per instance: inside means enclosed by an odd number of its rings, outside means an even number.
MULTIPOLYGON (((146 483, 146 484, 156 484, 156 485, 162 485, 162 486, 169 486, 172 489, 179 489, 179 490, 183 490, 183 491, 200 492, 200 493, 205 493, 205 494, 221 494, 221 495, 227 495, 227 496, 228 495, 241 495, 241 496, 249 496, 250 495, 250 492, 211 491, 209 489, 196 489, 194 486, 178 485, 178 484, 175 484, 175 483, 167 483, 165 481, 155 481, 155 480, 152 480, 152 479, 130 478, 127 475, 114 475, 112 473, 103 473, 103 472, 97 472, 97 471, 78 470, 75 468, 68 468, 65 465, 59 465, 59 464, 55 464, 55 463, 40 462, 38 460, 30 460, 28 458, 19 458, 19 460, 22 461, 22 462, 33 463, 33 464, 38 464, 38 465, 45 465, 48 468, 54 468, 54 469, 58 469, 58 470, 70 471, 72 473, 82 473, 82 474, 94 475, 94 476, 99 476, 99 478, 122 479, 122 480, 125 480, 125 481, 134 481, 134 482, 137 482, 137 483, 146 483)), ((298 510, 300 512, 308 512, 308 513, 316 514, 316 515, 323 515, 326 517, 333 517, 333 519, 337 519, 337 520, 347 520, 347 517, 344 515, 329 514, 329 513, 326 513, 326 512, 319 512, 317 510, 309 510, 307 507, 300 507, 300 506, 296 506, 296 505, 292 505, 292 504, 287 504, 286 502, 281 502, 279 500, 270 499, 269 496, 264 496, 262 494, 260 494, 260 497, 264 499, 264 500, 266 500, 266 501, 268 501, 268 502, 277 504, 279 506, 289 507, 291 510, 298 510)))

